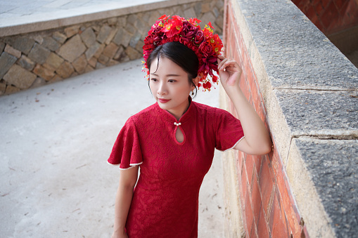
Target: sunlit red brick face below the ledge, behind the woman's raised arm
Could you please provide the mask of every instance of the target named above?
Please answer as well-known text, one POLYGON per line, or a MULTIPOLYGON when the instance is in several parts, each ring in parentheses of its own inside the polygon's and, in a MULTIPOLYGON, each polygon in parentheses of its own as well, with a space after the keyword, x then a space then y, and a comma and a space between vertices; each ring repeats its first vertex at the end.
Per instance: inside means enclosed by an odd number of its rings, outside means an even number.
MULTIPOLYGON (((225 54, 241 64, 241 89, 267 125, 267 112, 231 1, 226 1, 225 18, 225 54)), ((234 113, 234 105, 229 105, 234 113)), ((236 164, 246 237, 308 237, 276 147, 264 156, 239 152, 236 164)))

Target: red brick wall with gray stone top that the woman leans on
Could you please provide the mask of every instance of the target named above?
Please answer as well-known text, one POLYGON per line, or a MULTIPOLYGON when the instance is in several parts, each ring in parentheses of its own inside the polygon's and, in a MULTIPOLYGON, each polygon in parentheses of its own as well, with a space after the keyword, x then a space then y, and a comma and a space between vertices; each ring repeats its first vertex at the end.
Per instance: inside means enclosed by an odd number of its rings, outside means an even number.
POLYGON ((356 236, 357 68, 291 1, 224 5, 225 53, 274 142, 224 154, 226 237, 356 236))

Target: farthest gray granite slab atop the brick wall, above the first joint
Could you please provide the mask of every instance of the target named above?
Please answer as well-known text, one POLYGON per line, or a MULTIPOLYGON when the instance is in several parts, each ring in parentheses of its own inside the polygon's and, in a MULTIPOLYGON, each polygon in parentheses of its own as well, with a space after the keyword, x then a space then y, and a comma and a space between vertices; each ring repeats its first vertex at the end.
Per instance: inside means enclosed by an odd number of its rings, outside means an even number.
POLYGON ((274 88, 357 90, 357 67, 291 1, 238 2, 274 88))

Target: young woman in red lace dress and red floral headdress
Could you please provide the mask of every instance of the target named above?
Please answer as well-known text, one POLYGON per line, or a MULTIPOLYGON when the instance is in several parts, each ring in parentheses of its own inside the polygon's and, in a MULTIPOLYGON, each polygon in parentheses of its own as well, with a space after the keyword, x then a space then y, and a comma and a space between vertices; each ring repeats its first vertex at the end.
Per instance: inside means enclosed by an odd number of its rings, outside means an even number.
POLYGON ((269 133, 239 87, 241 67, 220 55, 219 37, 199 22, 164 15, 144 41, 156 103, 127 120, 108 159, 122 169, 113 237, 198 237, 199 189, 215 148, 271 151, 269 133), (191 100, 196 88, 217 82, 212 70, 238 119, 191 100))

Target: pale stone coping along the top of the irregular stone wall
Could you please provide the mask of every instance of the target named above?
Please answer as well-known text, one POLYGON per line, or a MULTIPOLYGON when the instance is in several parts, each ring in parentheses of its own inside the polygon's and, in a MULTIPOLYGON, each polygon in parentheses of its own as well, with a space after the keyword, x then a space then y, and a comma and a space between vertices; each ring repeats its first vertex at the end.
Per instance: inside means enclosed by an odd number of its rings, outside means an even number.
POLYGON ((98 4, 56 12, 24 15, 20 18, 5 18, 0 21, 0 37, 25 34, 46 29, 75 25, 82 22, 101 20, 130 13, 139 13, 158 8, 189 4, 202 0, 132 0, 120 1, 115 4, 98 4))

